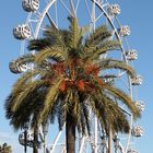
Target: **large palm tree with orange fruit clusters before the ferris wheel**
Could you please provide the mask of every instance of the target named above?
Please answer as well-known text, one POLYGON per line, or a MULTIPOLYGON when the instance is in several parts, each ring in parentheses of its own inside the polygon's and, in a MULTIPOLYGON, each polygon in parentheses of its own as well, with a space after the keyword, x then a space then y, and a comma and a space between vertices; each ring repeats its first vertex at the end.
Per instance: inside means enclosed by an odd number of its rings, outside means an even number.
MULTIPOLYGON (((134 118, 140 116, 132 99, 114 84, 104 82, 102 71, 119 69, 132 78, 133 69, 116 59, 99 56, 117 50, 120 43, 109 39, 106 25, 89 34, 79 27, 75 17, 69 17, 70 27, 47 27, 44 37, 30 42, 35 55, 22 58, 21 63, 33 63, 13 85, 5 103, 7 118, 15 129, 30 122, 31 127, 58 118, 59 129, 66 122, 67 152, 75 152, 75 128, 82 134, 91 133, 90 109, 98 118, 108 136, 109 129, 129 132, 129 122, 117 99, 123 103, 134 118), (89 36, 86 36, 89 35, 89 36)), ((108 76, 108 75, 107 75, 108 76)))

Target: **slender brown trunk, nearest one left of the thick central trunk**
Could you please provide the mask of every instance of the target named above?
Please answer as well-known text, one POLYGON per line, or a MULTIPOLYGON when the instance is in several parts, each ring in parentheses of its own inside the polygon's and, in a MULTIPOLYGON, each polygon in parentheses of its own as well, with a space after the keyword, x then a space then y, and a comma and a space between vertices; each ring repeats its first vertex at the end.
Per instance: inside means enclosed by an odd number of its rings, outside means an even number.
POLYGON ((34 128, 34 146, 33 146, 33 153, 38 153, 38 127, 36 126, 34 128))

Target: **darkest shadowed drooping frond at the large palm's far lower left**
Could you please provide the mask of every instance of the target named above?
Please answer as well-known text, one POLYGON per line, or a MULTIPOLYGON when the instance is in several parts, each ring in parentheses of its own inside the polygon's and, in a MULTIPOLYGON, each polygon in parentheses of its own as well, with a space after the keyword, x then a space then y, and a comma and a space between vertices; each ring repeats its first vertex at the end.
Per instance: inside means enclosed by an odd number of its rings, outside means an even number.
MULTIPOLYGON (((10 111, 12 107, 11 103, 9 103, 9 107, 7 107, 7 117, 10 119, 10 125, 13 126, 15 130, 19 130, 20 128, 23 128, 25 122, 32 122, 32 127, 34 121, 34 114, 40 111, 40 108, 43 106, 43 101, 46 95, 46 90, 37 91, 27 98, 24 98, 22 103, 19 105, 17 109, 15 111, 10 111)), ((36 123, 36 122, 35 122, 36 123)))

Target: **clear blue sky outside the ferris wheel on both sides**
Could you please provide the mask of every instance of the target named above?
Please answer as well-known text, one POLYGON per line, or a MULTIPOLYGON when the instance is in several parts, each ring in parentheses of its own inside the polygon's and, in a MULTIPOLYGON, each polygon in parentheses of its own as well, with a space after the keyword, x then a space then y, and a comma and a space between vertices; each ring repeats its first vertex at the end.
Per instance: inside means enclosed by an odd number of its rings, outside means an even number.
MULTIPOLYGON (((138 97, 145 102, 145 110, 138 121, 144 129, 144 136, 138 138, 136 149, 140 153, 150 153, 153 150, 153 1, 138 0, 111 0, 119 3, 121 14, 119 20, 122 24, 131 27, 128 42, 131 47, 139 50, 139 57, 134 61, 134 68, 143 76, 143 84, 139 87, 138 97)), ((16 75, 9 70, 9 62, 20 56, 20 42, 13 38, 12 28, 23 23, 26 13, 21 7, 21 0, 3 0, 0 4, 0 143, 8 142, 13 145, 13 153, 19 153, 17 133, 4 117, 4 99, 16 80, 16 75)))

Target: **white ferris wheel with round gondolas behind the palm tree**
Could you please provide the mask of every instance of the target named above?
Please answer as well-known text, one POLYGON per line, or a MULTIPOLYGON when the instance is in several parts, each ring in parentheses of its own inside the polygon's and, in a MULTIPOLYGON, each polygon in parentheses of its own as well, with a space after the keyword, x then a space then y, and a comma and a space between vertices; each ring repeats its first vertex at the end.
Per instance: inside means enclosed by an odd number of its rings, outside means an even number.
MULTIPOLYGON (((19 24, 13 28, 13 35, 21 40, 21 55, 26 52, 26 43, 30 39, 42 37, 45 26, 54 25, 56 28, 68 28, 67 17, 69 15, 76 16, 80 26, 89 25, 91 31, 94 31, 102 24, 107 24, 108 28, 113 31, 111 39, 117 39, 121 43, 120 49, 110 54, 106 54, 101 58, 114 57, 131 64, 138 58, 138 51, 131 48, 128 44, 128 36, 130 35, 130 27, 122 25, 119 22, 118 15, 121 13, 119 4, 111 4, 107 0, 22 0, 23 10, 27 12, 25 23, 19 24)), ((33 51, 32 54, 35 54, 33 51)), ((27 69, 32 69, 28 64, 20 64, 21 57, 10 62, 10 70, 13 73, 23 73, 27 69)), ((105 79, 106 82, 115 82, 120 85, 122 90, 128 93, 134 101, 136 106, 140 111, 144 109, 144 103, 138 99, 137 86, 142 84, 141 75, 130 78, 126 71, 105 72, 114 78, 105 79)), ((119 104, 120 105, 120 104, 119 104)), ((138 153, 133 149, 133 138, 143 136, 141 126, 134 125, 132 115, 127 108, 120 105, 125 114, 127 114, 130 122, 130 132, 128 136, 117 133, 111 138, 114 142, 113 151, 115 153, 138 153)), ((92 136, 82 137, 76 136, 78 153, 107 153, 108 138, 105 132, 99 129, 99 123, 94 115, 91 113, 92 136)), ((39 127, 39 142, 38 148, 44 148, 45 153, 66 153, 66 138, 63 130, 54 132, 55 140, 46 143, 45 136, 47 134, 47 125, 45 128, 39 127)), ((27 145, 33 146, 33 131, 27 130, 27 145)), ((19 137, 20 143, 24 143, 24 133, 19 137)))

